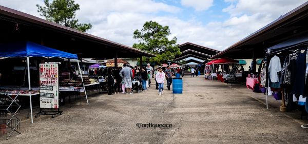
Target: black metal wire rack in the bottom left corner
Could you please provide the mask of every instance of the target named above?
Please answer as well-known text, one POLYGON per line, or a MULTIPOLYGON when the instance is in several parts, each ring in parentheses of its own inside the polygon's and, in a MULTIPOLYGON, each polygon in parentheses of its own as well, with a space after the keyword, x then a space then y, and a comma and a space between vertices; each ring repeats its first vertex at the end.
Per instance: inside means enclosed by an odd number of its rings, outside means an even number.
POLYGON ((0 107, 0 111, 1 111, 1 132, 6 132, 7 129, 11 129, 12 131, 10 132, 9 136, 7 137, 7 139, 10 138, 10 136, 12 135, 12 133, 15 131, 18 134, 21 134, 20 132, 18 132, 16 129, 20 128, 20 122, 21 119, 18 118, 16 116, 16 113, 20 110, 21 106, 16 102, 16 98, 18 97, 18 95, 20 94, 20 92, 18 92, 17 94, 11 94, 11 93, 0 93, 0 95, 6 96, 7 98, 3 98, 1 99, 1 107, 0 107), (15 98, 13 99, 10 95, 14 95, 15 98), (13 104, 16 105, 13 105, 13 104), (9 105, 7 105, 9 104, 9 105), (10 108, 12 107, 16 107, 16 111, 11 112, 10 108), (3 124, 4 123, 4 124, 3 124))

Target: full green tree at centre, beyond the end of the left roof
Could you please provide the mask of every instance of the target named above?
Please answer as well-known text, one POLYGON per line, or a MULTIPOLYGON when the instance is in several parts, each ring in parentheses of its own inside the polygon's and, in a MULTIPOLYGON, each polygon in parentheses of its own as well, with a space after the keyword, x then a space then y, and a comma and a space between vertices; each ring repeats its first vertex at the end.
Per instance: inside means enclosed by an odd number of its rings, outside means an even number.
POLYGON ((156 57, 145 57, 147 62, 157 62, 162 64, 167 59, 174 59, 180 55, 180 49, 177 45, 177 37, 169 40, 170 35, 168 26, 162 26, 157 22, 145 22, 141 30, 133 32, 133 38, 138 39, 139 44, 133 44, 137 48, 152 54, 156 57))

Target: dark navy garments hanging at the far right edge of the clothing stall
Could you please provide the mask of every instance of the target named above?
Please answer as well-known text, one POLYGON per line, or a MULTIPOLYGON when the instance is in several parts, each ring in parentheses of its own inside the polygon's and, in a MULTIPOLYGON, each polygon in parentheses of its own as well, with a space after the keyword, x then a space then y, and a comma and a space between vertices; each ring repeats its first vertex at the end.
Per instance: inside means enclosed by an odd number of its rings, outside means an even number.
POLYGON ((300 48, 296 59, 295 81, 292 93, 302 95, 304 93, 306 79, 306 48, 300 48))

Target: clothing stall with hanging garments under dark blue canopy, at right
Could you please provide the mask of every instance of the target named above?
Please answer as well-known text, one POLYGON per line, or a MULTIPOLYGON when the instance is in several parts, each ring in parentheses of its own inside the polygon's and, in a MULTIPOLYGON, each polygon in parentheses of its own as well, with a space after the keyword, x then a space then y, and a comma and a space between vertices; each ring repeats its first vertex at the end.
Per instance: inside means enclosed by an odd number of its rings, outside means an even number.
POLYGON ((308 34, 290 38, 266 49, 266 62, 260 74, 261 85, 283 99, 280 110, 304 110, 308 96, 308 34), (285 105, 285 101, 287 105, 285 105))

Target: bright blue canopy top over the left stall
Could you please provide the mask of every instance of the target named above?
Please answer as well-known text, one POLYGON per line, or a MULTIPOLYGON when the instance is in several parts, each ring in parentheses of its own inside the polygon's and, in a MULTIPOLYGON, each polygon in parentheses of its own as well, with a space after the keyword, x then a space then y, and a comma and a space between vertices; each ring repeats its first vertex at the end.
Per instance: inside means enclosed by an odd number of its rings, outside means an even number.
POLYGON ((76 54, 55 50, 32 42, 16 42, 0 45, 0 57, 61 57, 77 59, 76 54))

